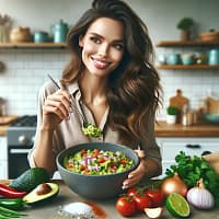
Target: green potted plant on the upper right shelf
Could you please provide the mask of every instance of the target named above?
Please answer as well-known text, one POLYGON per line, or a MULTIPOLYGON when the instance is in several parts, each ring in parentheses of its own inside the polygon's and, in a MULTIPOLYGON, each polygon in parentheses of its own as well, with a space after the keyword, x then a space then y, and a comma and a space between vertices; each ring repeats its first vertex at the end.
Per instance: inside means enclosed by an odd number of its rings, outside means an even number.
POLYGON ((194 25, 194 20, 191 18, 183 18, 177 23, 177 28, 181 30, 181 39, 182 41, 189 41, 191 35, 191 28, 194 25))

